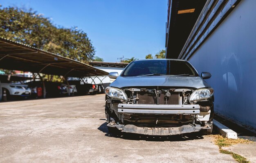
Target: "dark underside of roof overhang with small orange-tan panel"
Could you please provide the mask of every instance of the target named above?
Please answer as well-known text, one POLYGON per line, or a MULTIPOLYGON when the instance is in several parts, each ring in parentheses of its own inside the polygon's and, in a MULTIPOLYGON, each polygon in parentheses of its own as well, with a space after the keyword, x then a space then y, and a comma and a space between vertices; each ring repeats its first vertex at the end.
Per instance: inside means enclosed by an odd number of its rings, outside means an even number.
POLYGON ((207 0, 171 0, 168 6, 166 58, 178 58, 207 0), (194 9, 194 12, 179 11, 194 9))

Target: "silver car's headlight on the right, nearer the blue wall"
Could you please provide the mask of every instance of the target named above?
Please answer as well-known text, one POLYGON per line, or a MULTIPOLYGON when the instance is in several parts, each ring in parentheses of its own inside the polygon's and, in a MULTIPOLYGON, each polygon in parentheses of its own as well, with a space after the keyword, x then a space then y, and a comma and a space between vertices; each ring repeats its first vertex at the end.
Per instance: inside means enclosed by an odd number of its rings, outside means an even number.
POLYGON ((195 90, 191 94, 191 96, 189 98, 189 102, 191 104, 195 104, 198 101, 208 100, 212 96, 213 96, 213 89, 212 88, 200 88, 200 89, 195 90))

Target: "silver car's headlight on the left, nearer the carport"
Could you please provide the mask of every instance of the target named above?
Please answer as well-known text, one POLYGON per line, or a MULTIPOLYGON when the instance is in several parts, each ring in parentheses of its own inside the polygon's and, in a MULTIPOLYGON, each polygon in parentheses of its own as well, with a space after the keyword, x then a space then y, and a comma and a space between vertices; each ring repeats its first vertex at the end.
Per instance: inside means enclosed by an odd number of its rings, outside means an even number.
POLYGON ((126 103, 128 100, 126 93, 118 88, 106 87, 105 93, 111 99, 120 100, 123 103, 126 103))

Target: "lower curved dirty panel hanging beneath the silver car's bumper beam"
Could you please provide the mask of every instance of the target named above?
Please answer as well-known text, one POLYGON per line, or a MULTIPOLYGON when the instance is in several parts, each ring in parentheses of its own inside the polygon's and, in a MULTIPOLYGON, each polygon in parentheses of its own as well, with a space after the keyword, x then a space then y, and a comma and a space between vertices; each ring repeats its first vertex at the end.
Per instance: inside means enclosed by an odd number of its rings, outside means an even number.
POLYGON ((143 135, 179 135, 184 133, 198 132, 201 129, 209 129, 210 127, 201 127, 200 125, 193 126, 192 124, 183 125, 180 127, 137 127, 132 124, 115 124, 109 123, 109 127, 116 127, 124 133, 135 133, 143 135))

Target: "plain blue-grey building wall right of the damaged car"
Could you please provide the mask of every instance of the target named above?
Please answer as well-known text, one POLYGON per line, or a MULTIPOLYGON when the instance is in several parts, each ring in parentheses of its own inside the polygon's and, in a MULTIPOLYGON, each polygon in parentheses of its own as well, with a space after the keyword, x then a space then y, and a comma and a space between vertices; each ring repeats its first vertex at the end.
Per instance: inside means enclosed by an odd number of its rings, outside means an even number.
POLYGON ((215 111, 256 128, 256 0, 242 0, 189 61, 215 90, 215 111))

